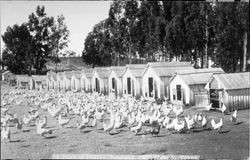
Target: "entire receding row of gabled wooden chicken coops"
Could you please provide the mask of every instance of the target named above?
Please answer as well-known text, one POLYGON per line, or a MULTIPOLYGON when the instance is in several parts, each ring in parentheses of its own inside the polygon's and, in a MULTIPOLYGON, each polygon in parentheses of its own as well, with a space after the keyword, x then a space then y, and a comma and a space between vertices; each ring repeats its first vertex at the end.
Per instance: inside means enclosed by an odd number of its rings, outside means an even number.
POLYGON ((16 75, 18 88, 98 92, 104 95, 167 99, 185 106, 212 103, 229 111, 250 106, 250 72, 226 74, 221 68, 195 69, 189 62, 150 62, 16 75))

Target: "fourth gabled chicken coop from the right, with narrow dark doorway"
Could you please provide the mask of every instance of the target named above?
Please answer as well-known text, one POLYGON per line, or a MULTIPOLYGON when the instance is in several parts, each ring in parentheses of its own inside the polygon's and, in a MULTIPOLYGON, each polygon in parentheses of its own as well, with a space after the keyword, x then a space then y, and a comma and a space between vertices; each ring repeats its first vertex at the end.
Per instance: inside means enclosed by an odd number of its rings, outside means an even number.
POLYGON ((129 64, 122 77, 123 95, 140 96, 142 93, 142 76, 146 64, 129 64))

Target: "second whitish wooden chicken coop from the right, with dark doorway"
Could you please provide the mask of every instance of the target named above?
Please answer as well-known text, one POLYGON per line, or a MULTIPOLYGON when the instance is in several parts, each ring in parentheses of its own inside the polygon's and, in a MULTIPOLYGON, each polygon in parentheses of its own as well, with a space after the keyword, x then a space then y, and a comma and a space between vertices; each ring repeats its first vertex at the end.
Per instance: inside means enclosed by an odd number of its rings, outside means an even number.
POLYGON ((221 68, 178 71, 170 80, 171 102, 201 107, 208 105, 205 85, 213 74, 220 73, 224 73, 221 68))

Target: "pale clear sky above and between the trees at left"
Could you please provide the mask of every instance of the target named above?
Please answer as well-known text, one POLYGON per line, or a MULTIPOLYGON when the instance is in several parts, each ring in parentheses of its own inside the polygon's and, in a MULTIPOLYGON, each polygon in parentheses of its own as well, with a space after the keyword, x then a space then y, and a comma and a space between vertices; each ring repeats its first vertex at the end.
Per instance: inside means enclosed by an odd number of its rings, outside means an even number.
MULTIPOLYGON (((45 7, 47 16, 63 14, 69 29, 69 50, 81 55, 88 33, 98 22, 108 18, 111 1, 0 1, 1 35, 8 26, 28 22, 38 5, 45 7)), ((1 52, 4 43, 1 38, 1 52)))

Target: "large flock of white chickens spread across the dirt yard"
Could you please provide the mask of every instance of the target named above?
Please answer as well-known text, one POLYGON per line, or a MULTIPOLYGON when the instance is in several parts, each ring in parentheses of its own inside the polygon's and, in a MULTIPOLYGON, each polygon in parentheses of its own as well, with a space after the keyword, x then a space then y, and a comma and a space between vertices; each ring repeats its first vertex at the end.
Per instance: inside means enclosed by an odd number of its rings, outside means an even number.
MULTIPOLYGON (((147 129, 143 134, 157 136, 162 128, 173 132, 186 132, 199 127, 207 129, 209 118, 201 113, 182 116, 182 106, 173 105, 167 101, 157 104, 155 101, 145 99, 136 100, 133 97, 115 97, 113 94, 104 96, 98 93, 34 91, 13 89, 9 93, 1 95, 1 140, 10 141, 10 124, 14 124, 21 131, 24 125, 31 123, 36 125, 37 134, 45 136, 52 134, 47 128, 47 117, 40 114, 41 110, 47 111, 56 119, 61 127, 69 124, 73 117, 80 116, 75 126, 82 132, 87 127, 97 127, 101 124, 107 134, 111 131, 119 133, 120 128, 128 127, 135 135, 139 134, 143 126, 147 129), (29 111, 22 118, 17 114, 10 114, 11 104, 28 105, 29 111), (40 112, 40 113, 39 113, 40 112), (58 119, 56 118, 58 117, 58 119), (71 116, 72 117, 72 116, 71 116)), ((212 104, 205 107, 210 110, 212 104)), ((222 112, 226 107, 223 105, 222 112)), ((224 117, 224 116, 223 116, 224 117)), ((231 121, 236 123, 237 110, 231 115, 231 121)), ((209 128, 219 130, 223 126, 223 118, 218 123, 211 119, 209 128)))

